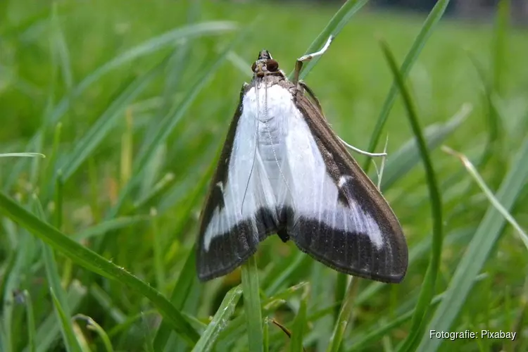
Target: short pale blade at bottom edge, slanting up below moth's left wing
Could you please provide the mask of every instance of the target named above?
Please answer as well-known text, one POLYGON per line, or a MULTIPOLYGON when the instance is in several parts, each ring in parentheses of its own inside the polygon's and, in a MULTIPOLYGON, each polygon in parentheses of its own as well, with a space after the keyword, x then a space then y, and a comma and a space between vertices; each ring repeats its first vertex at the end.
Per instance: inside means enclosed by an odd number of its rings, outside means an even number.
POLYGON ((220 307, 216 310, 216 314, 213 317, 213 320, 209 322, 206 331, 203 332, 201 338, 196 343, 192 351, 201 352, 201 351, 211 351, 213 346, 218 338, 220 331, 225 328, 228 320, 234 313, 234 308, 237 306, 237 303, 242 295, 242 289, 240 286, 233 287, 225 295, 220 307))

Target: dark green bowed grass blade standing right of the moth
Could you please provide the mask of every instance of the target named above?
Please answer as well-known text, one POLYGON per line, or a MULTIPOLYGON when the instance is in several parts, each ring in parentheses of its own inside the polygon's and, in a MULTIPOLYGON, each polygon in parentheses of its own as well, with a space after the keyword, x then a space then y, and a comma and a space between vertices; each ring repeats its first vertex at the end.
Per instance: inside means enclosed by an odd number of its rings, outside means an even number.
POLYGON ((429 151, 427 150, 427 144, 425 143, 425 139, 422 134, 422 128, 420 127, 420 122, 418 121, 417 114, 413 106, 413 101, 410 98, 408 90, 406 89, 403 75, 401 75, 400 70, 398 70, 396 59, 391 53, 389 46, 387 46, 387 44, 384 42, 382 42, 382 50, 387 63, 389 63, 392 74, 394 75, 394 80, 396 81, 397 87, 400 90, 403 103, 406 106, 410 126, 413 129, 413 134, 415 135, 416 142, 420 149, 420 156, 422 157, 425 175, 427 178, 427 189, 429 190, 429 199, 431 200, 431 216, 433 220, 433 244, 431 250, 431 260, 429 261, 429 266, 427 267, 427 271, 425 273, 422 289, 420 290, 420 296, 418 297, 415 314, 413 315, 413 320, 411 322, 410 333, 404 341, 403 347, 400 349, 400 351, 412 351, 413 346, 416 344, 418 337, 420 337, 424 329, 422 322, 425 320, 427 311, 429 310, 429 304, 431 303, 434 295, 436 276, 440 270, 443 235, 442 201, 439 187, 436 182, 436 175, 432 165, 431 157, 429 156, 429 151))

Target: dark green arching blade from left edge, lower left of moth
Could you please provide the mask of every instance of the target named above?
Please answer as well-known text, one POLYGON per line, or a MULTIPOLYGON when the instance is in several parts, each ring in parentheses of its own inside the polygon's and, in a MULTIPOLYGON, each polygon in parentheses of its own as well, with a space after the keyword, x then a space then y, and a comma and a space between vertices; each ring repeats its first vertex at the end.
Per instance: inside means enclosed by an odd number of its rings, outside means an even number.
POLYGON ((198 341, 199 334, 194 330, 189 322, 184 318, 182 313, 177 310, 159 291, 150 287, 149 284, 138 279, 127 272, 124 268, 111 263, 99 254, 90 251, 73 241, 65 234, 51 227, 51 225, 42 222, 24 208, 9 199, 4 193, 0 192, 0 213, 18 222, 21 226, 30 230, 35 236, 39 237, 54 249, 63 252, 68 258, 82 265, 84 268, 91 270, 108 279, 126 284, 130 288, 149 298, 158 308, 161 315, 171 322, 172 327, 180 336, 189 344, 198 341))

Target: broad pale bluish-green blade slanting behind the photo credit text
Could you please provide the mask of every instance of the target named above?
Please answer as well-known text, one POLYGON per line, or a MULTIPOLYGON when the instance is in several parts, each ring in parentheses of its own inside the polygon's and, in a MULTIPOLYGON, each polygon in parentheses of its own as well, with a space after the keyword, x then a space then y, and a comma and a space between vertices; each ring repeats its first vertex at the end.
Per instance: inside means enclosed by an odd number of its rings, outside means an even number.
MULTIPOLYGON (((504 177, 501 187, 496 193, 496 199, 503 205, 505 210, 512 208, 527 181, 528 139, 525 139, 513 159, 508 175, 504 177)), ((504 225, 505 218, 503 215, 493 205, 490 205, 470 245, 467 247, 460 263, 458 263, 446 290, 446 296, 436 309, 436 313, 431 322, 429 322, 427 329, 448 331, 453 325, 473 286, 472 278, 476 277, 482 270, 486 259, 491 253, 491 249, 493 249, 502 233, 504 225)), ((436 351, 441 342, 441 339, 429 339, 427 334, 422 338, 418 351, 436 351)))

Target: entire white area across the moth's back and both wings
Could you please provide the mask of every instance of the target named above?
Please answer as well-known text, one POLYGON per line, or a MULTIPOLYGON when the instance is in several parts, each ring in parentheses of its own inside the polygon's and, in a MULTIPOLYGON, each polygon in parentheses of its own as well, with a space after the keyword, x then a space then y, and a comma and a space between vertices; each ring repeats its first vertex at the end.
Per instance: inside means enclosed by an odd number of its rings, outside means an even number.
MULTIPOLYGON (((258 236, 256 212, 284 206, 296 218, 310 218, 345 232, 367 234, 381 249, 382 232, 374 219, 353 199, 338 201, 338 187, 328 175, 310 128, 287 89, 274 84, 252 87, 244 95, 243 111, 230 157, 226 184, 221 185, 225 206, 216 208, 207 225, 203 246, 229 232, 237 223, 251 220, 258 236)), ((339 187, 353 177, 343 175, 339 187)))

